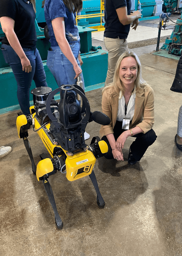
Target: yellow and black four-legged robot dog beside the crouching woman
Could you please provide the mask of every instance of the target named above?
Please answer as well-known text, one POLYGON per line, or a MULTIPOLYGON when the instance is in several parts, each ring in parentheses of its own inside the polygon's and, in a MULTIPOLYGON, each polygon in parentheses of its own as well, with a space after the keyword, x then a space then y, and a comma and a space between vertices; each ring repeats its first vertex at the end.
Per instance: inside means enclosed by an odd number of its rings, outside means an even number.
POLYGON ((27 118, 18 113, 17 130, 19 138, 23 139, 32 164, 33 174, 38 181, 42 181, 44 189, 55 214, 55 224, 58 229, 63 227, 63 222, 57 211, 51 185, 48 181, 50 175, 60 171, 66 174, 69 181, 74 181, 90 176, 97 192, 97 204, 104 208, 105 202, 100 193, 98 183, 93 171, 96 158, 108 152, 105 141, 93 137, 91 144, 85 144, 85 127, 91 121, 108 125, 110 118, 105 114, 90 111, 90 105, 84 91, 78 85, 62 85, 52 91, 49 87, 39 87, 31 90, 34 106, 30 107, 31 117, 27 118), (60 92, 60 102, 54 100, 54 95, 60 92), (77 98, 82 99, 81 101, 77 98), (33 127, 37 131, 43 144, 47 148, 50 158, 41 154, 41 161, 37 167, 28 137, 28 129, 33 127))

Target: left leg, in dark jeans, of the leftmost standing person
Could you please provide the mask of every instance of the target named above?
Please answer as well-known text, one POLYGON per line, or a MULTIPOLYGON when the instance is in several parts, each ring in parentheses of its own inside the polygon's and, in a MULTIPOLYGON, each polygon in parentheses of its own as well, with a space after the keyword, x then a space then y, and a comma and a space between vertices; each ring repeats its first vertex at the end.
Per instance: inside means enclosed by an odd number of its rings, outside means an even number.
POLYGON ((20 58, 14 52, 13 48, 9 45, 2 45, 2 53, 5 61, 11 66, 14 77, 17 81, 17 97, 18 102, 20 104, 20 108, 24 115, 30 114, 30 87, 33 80, 34 72, 35 72, 35 56, 34 51, 28 48, 24 48, 24 53, 30 60, 30 64, 32 66, 32 71, 27 73, 22 71, 22 65, 20 58))

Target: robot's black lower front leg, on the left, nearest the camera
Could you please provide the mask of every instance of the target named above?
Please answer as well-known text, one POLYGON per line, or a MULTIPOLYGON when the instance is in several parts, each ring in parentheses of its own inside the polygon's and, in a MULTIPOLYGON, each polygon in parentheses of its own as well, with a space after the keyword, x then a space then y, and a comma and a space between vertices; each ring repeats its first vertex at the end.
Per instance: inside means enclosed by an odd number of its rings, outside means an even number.
POLYGON ((61 229, 63 227, 63 222, 59 216, 56 204, 55 204, 55 199, 54 199, 54 195, 52 192, 52 188, 51 185, 48 181, 48 179, 46 177, 43 177, 42 179, 43 185, 44 185, 44 189, 48 195, 49 201, 51 203, 52 209, 54 211, 54 215, 55 215, 55 225, 57 226, 58 229, 61 229))

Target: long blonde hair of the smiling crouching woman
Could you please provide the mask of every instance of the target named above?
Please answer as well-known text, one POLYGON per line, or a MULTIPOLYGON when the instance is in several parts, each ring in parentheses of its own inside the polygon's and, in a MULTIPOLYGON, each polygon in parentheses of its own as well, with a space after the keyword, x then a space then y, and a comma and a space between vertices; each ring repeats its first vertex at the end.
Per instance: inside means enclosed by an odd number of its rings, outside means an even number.
POLYGON ((111 97, 115 98, 119 96, 120 91, 122 92, 122 95, 124 94, 124 86, 121 82, 120 76, 119 76, 119 69, 120 69, 120 65, 121 62, 124 58, 127 57, 133 57, 137 63, 137 77, 136 80, 134 81, 134 85, 135 85, 135 92, 137 92, 140 88, 145 88, 146 85, 148 85, 146 83, 145 80, 143 80, 142 78, 142 72, 141 72, 141 63, 139 60, 139 57, 134 53, 134 52, 124 52, 123 54, 121 54, 121 56, 119 57, 116 66, 115 66, 115 71, 114 71, 114 77, 113 77, 113 82, 110 83, 108 86, 106 86, 103 90, 102 90, 102 94, 105 90, 112 88, 111 90, 111 97))

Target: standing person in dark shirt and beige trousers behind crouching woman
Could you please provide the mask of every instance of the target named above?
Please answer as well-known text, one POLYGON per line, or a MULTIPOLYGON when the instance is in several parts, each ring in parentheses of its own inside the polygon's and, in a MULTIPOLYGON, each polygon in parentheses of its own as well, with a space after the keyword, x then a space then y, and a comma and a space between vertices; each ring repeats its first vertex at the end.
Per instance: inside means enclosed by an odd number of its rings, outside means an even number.
POLYGON ((104 44, 108 50, 108 72, 105 86, 113 82, 115 65, 120 55, 128 51, 127 37, 130 24, 136 30, 140 11, 131 13, 131 0, 105 0, 104 44))

